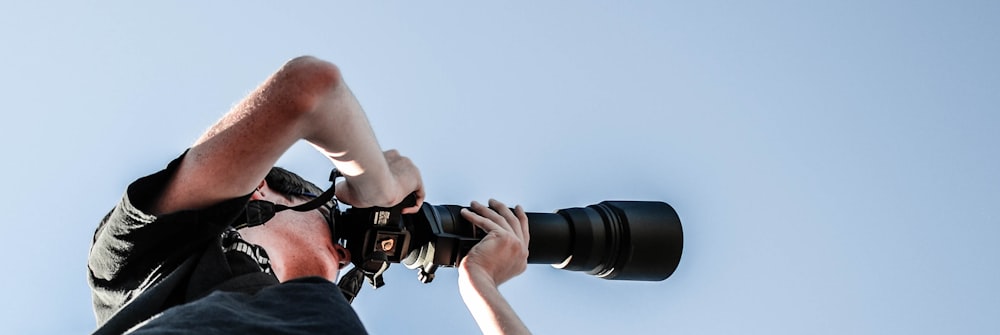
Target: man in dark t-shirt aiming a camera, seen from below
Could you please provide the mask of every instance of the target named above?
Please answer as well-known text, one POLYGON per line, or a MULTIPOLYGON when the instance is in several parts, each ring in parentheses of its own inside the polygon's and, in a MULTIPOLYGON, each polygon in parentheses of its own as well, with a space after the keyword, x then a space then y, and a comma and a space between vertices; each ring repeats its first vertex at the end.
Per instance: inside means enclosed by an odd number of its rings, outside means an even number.
MULTIPOLYGON (((364 332, 333 284, 350 253, 332 242, 327 209, 233 229, 250 200, 296 205, 317 194, 272 168, 300 139, 345 175, 339 200, 392 207, 415 193, 403 212, 422 204, 419 170, 381 150, 337 67, 293 59, 102 220, 88 261, 97 333, 364 332)), ((497 290, 527 266, 523 209, 490 200, 462 215, 488 232, 459 266, 463 300, 484 333, 527 333, 497 290)))

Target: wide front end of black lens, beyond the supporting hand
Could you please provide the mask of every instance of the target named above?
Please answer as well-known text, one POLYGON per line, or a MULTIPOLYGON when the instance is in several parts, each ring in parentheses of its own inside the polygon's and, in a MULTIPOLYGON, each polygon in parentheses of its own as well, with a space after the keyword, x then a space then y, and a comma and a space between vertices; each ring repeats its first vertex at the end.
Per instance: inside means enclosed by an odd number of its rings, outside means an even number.
POLYGON ((681 221, 667 203, 604 201, 528 215, 528 263, 614 280, 659 281, 680 263, 681 221))

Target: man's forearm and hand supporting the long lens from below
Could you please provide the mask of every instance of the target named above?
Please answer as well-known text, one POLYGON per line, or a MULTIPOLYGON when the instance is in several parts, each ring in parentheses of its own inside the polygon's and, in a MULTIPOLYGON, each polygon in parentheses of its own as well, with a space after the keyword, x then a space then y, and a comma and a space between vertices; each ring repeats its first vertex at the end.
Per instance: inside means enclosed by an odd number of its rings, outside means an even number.
POLYGON ((492 199, 488 208, 477 202, 471 207, 462 216, 486 231, 486 237, 459 265, 462 300, 484 334, 530 334, 498 289, 528 266, 528 217, 521 206, 511 211, 492 199))

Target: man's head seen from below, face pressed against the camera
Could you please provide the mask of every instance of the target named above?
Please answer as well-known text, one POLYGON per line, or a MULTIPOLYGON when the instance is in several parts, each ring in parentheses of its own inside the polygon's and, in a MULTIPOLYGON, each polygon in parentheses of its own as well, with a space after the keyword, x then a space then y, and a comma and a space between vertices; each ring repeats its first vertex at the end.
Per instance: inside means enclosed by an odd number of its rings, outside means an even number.
MULTIPOLYGON (((251 200, 295 206, 323 191, 299 175, 274 167, 253 192, 251 200)), ((328 207, 298 212, 281 211, 265 224, 240 229, 247 242, 267 251, 278 280, 320 276, 336 281, 340 268, 350 262, 350 253, 334 244, 328 224, 328 207)))

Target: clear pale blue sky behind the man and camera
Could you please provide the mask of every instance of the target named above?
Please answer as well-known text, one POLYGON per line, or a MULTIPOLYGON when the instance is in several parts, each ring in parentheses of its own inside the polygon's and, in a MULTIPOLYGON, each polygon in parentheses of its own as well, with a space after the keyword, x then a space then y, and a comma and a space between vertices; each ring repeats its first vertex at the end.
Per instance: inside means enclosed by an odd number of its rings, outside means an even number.
MULTIPOLYGON (((92 330, 87 250, 124 187, 309 54, 429 202, 677 209, 666 281, 504 284, 538 334, 996 334, 998 4, 8 1, 0 333, 92 330)), ((453 269, 386 282, 355 303, 372 333, 477 331, 453 269)))

